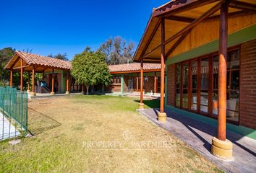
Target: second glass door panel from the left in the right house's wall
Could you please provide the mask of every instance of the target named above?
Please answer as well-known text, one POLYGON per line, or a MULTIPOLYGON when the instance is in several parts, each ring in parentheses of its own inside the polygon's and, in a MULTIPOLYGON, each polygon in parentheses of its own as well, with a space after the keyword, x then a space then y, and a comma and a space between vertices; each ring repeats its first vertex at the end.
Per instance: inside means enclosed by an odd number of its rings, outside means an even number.
POLYGON ((182 64, 182 108, 189 108, 189 63, 182 64))

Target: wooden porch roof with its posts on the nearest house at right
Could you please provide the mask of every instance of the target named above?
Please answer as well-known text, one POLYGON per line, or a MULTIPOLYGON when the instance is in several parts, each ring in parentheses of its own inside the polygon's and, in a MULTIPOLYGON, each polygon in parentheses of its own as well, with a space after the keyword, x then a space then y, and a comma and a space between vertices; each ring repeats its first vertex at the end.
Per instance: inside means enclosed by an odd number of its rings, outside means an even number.
MULTIPOLYGON (((164 113, 166 60, 213 40, 219 40, 218 139, 213 140, 212 150, 215 155, 221 154, 214 143, 226 142, 228 143, 225 143, 226 148, 229 148, 226 154, 229 154, 225 156, 231 156, 231 146, 226 140, 227 36, 254 25, 255 13, 255 0, 173 0, 153 9, 135 52, 134 61, 141 63, 141 76, 143 76, 143 63, 161 63, 161 105, 158 120, 166 121, 164 113), (244 18, 238 19, 238 17, 244 18)), ((141 90, 140 108, 142 107, 141 90)))

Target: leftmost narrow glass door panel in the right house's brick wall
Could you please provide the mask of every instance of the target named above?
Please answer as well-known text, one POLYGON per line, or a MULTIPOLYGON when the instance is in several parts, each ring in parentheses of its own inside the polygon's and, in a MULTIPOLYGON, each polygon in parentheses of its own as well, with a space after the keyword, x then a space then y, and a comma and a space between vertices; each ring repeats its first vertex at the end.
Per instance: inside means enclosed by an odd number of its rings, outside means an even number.
POLYGON ((175 106, 181 107, 181 79, 182 79, 182 65, 178 63, 176 65, 176 97, 175 97, 175 106))

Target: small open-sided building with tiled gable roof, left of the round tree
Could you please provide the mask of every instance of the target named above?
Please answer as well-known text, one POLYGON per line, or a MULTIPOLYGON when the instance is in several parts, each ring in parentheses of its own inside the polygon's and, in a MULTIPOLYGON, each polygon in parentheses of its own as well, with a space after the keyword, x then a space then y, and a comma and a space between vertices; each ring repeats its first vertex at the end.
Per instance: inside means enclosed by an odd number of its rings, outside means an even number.
POLYGON ((12 86, 13 72, 20 72, 20 90, 31 91, 32 95, 80 92, 82 89, 70 75, 69 61, 16 51, 5 68, 10 70, 10 86, 12 86), (25 72, 28 74, 28 80, 32 79, 32 86, 30 81, 24 86, 25 72), (35 81, 35 73, 42 74, 43 80, 35 81))

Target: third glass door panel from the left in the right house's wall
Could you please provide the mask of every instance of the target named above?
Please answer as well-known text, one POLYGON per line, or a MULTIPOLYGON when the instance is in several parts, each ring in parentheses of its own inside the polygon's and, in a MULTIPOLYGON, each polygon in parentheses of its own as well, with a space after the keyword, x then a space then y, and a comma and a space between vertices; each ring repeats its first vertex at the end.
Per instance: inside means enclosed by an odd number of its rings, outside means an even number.
POLYGON ((191 62, 190 67, 190 109, 197 110, 197 61, 191 62))

